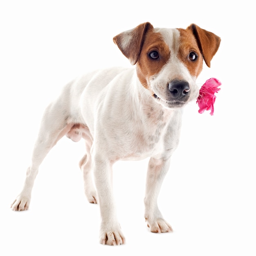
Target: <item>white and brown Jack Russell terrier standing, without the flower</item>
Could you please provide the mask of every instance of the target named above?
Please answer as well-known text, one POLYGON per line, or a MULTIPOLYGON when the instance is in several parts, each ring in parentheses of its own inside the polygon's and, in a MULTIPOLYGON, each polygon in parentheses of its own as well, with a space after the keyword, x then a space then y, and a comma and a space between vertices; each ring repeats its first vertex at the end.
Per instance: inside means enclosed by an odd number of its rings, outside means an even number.
POLYGON ((203 61, 210 67, 220 37, 195 24, 166 29, 145 22, 113 40, 135 66, 90 72, 63 88, 45 110, 24 187, 11 209, 29 208, 38 168, 59 139, 83 138, 86 154, 79 166, 88 201, 100 206, 100 243, 121 245, 125 238, 113 200, 112 165, 150 157, 145 219, 151 232, 173 231, 157 197, 179 143, 183 108, 197 99, 196 79, 203 61))

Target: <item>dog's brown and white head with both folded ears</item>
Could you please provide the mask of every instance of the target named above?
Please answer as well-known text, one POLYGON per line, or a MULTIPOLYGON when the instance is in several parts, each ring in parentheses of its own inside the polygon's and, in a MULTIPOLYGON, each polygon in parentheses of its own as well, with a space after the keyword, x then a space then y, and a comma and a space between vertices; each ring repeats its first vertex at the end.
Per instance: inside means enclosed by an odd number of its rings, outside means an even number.
POLYGON ((218 36, 195 24, 164 29, 146 22, 113 40, 130 63, 136 64, 141 84, 167 108, 182 107, 198 97, 195 80, 203 60, 210 67, 220 45, 218 36))

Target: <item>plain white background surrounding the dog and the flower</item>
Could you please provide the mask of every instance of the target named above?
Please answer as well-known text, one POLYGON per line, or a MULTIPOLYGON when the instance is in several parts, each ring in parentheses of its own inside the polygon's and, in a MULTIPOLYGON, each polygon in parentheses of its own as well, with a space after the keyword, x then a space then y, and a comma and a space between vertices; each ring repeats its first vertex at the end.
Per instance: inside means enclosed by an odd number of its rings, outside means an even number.
POLYGON ((1 1, 0 255, 256 255, 255 8, 253 1, 1 1), (83 141, 66 137, 40 167, 29 211, 13 212, 40 118, 83 72, 130 66, 112 42, 149 21, 191 23, 222 38, 198 86, 222 82, 215 113, 186 107, 179 148, 159 195, 172 234, 144 222, 147 161, 118 162, 114 189, 126 245, 99 244, 99 206, 83 194, 83 141))

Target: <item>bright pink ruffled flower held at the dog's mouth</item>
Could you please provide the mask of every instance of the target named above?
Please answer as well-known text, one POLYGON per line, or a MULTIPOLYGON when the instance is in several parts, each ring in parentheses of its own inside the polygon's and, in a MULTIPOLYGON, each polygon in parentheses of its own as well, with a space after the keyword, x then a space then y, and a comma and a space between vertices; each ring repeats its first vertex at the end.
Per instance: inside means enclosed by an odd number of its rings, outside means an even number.
POLYGON ((213 104, 216 99, 214 94, 220 90, 220 88, 218 88, 220 85, 220 81, 216 78, 210 78, 202 85, 201 89, 199 90, 198 99, 196 101, 199 106, 198 112, 200 114, 202 114, 204 110, 211 110, 210 115, 213 115, 213 104))

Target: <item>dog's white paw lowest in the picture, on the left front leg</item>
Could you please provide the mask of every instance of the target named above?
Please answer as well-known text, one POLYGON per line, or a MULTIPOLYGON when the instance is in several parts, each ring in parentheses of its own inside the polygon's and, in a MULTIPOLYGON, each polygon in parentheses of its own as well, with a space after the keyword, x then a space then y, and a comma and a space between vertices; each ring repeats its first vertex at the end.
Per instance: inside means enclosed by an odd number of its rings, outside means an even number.
POLYGON ((101 230, 100 243, 103 245, 122 245, 125 243, 125 238, 121 229, 113 229, 113 231, 101 230))

